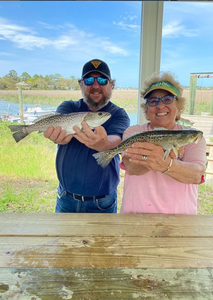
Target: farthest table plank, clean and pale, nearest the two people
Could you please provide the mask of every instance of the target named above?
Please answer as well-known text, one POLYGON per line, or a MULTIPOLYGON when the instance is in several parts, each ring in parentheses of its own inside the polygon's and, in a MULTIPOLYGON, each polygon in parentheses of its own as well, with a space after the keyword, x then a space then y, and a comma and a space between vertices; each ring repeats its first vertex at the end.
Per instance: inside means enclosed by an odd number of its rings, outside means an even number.
POLYGON ((0 213, 0 236, 213 237, 213 215, 0 213))

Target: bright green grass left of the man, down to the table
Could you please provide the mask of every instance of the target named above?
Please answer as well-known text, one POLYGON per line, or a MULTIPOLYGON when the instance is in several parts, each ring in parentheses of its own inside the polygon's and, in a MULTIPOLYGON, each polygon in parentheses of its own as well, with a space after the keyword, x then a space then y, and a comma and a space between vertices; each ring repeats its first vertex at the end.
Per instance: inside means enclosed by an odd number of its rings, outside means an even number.
POLYGON ((18 144, 0 122, 0 212, 54 212, 56 145, 32 133, 18 144))

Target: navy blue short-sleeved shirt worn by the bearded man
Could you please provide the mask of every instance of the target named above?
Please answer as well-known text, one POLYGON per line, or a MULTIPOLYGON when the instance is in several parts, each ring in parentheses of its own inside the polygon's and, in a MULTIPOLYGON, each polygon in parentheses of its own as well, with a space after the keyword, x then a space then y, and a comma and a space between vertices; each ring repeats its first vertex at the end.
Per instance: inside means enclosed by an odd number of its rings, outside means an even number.
MULTIPOLYGON (((83 111, 90 111, 83 99, 65 101, 57 108, 57 112, 62 114, 83 111)), ((125 110, 109 102, 100 111, 111 114, 111 117, 102 125, 107 135, 118 135, 122 138, 123 132, 130 125, 125 110)), ((99 196, 109 195, 117 188, 120 173, 119 156, 116 155, 103 169, 92 156, 96 152, 75 138, 66 145, 58 145, 56 171, 64 190, 83 196, 99 196)))

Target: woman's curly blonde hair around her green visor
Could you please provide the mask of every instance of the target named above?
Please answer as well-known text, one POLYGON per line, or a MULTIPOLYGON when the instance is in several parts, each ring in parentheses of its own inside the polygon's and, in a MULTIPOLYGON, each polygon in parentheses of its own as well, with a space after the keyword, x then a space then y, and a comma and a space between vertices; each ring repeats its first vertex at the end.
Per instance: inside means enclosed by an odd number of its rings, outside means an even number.
MULTIPOLYGON (((177 106, 177 108, 179 108, 180 112, 177 114, 175 121, 180 120, 180 116, 181 116, 181 113, 184 110, 186 99, 182 96, 183 87, 180 85, 180 83, 177 80, 175 80, 174 75, 172 75, 170 72, 153 73, 150 77, 148 77, 145 80, 144 85, 143 85, 143 89, 140 92, 140 95, 141 95, 142 99, 144 99, 144 95, 146 94, 146 92, 150 88, 150 86, 153 83, 159 82, 159 81, 170 82, 173 86, 175 86, 178 89, 178 91, 180 93, 180 96, 177 96, 177 98, 176 98, 177 99, 176 106, 177 106)), ((145 101, 145 99, 144 99, 144 101, 145 101)), ((141 107, 144 111, 146 119, 148 120, 148 117, 147 117, 148 105, 146 103, 142 103, 141 107)))

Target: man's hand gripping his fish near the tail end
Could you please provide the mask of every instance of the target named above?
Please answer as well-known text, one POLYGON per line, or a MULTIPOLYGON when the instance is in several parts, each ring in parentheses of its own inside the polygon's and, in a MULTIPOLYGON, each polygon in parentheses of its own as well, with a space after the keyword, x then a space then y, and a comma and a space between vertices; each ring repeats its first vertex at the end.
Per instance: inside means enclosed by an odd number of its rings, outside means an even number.
POLYGON ((66 135, 65 130, 61 130, 61 127, 49 127, 44 132, 44 137, 48 138, 49 140, 53 141, 56 144, 66 145, 68 144, 71 139, 73 138, 73 134, 66 135))

